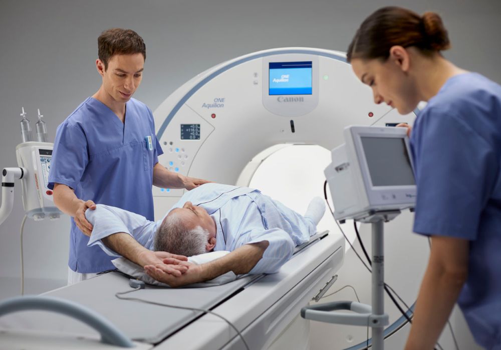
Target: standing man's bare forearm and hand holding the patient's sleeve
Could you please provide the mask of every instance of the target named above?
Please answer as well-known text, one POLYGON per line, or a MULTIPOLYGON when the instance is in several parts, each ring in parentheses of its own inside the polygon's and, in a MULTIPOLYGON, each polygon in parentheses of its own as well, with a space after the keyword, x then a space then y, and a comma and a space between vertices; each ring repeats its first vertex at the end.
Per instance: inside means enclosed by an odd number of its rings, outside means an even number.
POLYGON ((54 184, 54 204, 62 212, 73 216, 78 228, 86 235, 90 236, 92 224, 85 218, 85 210, 87 208, 95 209, 96 204, 92 200, 84 201, 78 199, 75 195, 75 190, 65 184, 54 184))

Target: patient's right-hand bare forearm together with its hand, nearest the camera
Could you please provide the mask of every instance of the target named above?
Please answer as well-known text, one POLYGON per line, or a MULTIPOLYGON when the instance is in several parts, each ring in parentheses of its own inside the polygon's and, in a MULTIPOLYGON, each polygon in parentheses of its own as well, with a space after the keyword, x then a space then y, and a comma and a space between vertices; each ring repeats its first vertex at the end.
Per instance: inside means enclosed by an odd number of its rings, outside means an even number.
MULTIPOLYGON (((232 252, 216 260, 195 265, 186 263, 189 268, 180 276, 169 274, 168 268, 164 264, 144 266, 146 273, 161 282, 167 283, 172 287, 178 287, 185 284, 203 282, 229 271, 235 274, 248 273, 263 257, 269 242, 263 240, 257 243, 242 245, 232 252)), ((167 263, 169 260, 164 260, 167 263)))

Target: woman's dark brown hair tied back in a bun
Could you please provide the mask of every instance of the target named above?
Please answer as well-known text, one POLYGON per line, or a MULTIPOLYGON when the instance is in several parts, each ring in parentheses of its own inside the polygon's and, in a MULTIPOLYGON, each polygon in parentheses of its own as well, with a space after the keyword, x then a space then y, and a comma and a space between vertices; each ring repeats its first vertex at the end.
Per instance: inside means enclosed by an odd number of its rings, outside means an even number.
POLYGON ((435 12, 422 16, 402 7, 383 7, 368 16, 348 47, 347 61, 353 58, 386 60, 395 45, 415 46, 423 54, 450 47, 447 30, 435 12))

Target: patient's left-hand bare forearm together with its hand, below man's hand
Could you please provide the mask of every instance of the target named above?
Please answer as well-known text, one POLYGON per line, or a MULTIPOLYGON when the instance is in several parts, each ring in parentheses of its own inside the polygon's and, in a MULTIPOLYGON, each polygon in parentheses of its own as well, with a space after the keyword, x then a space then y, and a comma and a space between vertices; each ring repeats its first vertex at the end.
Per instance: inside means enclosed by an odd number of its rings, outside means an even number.
POLYGON ((146 249, 127 233, 114 233, 101 240, 108 248, 140 266, 164 264, 166 274, 170 273, 174 276, 180 276, 188 269, 186 265, 181 264, 187 260, 186 256, 146 249))

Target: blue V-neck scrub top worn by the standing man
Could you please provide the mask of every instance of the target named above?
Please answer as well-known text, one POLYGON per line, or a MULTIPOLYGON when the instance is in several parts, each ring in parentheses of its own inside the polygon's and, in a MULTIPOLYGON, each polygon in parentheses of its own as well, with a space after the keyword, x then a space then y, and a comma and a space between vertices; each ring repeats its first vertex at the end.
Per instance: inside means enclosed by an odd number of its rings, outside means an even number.
MULTIPOLYGON (((108 106, 89 97, 58 126, 49 187, 66 184, 80 199, 153 220, 153 166, 162 153, 153 114, 144 103, 131 98, 122 123, 108 106)), ((70 268, 81 273, 114 268, 111 257, 97 246, 88 247, 88 241, 72 217, 70 268)))

